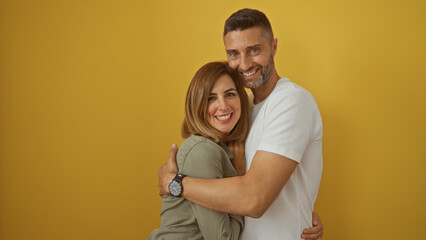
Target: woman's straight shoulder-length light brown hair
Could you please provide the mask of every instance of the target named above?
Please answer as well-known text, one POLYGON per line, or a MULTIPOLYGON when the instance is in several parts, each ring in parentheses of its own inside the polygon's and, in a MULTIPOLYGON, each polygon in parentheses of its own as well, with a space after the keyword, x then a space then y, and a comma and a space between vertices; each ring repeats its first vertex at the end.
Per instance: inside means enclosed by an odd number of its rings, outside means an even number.
POLYGON ((244 90, 242 80, 233 71, 227 62, 210 62, 202 66, 192 78, 186 93, 185 119, 182 124, 182 137, 201 135, 216 142, 223 135, 206 120, 208 98, 216 80, 223 74, 229 75, 235 83, 237 93, 241 101, 241 117, 234 129, 225 136, 225 142, 244 143, 249 130, 249 106, 247 93, 244 90))

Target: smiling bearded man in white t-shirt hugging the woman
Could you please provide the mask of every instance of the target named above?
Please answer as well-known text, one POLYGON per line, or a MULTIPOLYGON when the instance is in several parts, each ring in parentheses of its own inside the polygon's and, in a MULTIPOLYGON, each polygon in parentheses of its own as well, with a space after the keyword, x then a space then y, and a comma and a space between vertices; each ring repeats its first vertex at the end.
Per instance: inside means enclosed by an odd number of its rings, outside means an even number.
MULTIPOLYGON (((243 176, 196 179, 179 176, 173 192, 203 207, 248 216, 241 239, 319 239, 311 226, 322 173, 322 120, 311 94, 280 78, 275 66, 277 39, 257 10, 232 14, 223 33, 228 64, 253 93, 252 125, 245 145, 243 176), (183 187, 183 191, 182 191, 183 187), (306 234, 307 233, 307 234, 306 234)), ((177 173, 172 148, 160 168, 160 195, 169 194, 177 173)), ((314 224, 315 225, 315 224, 314 224)))

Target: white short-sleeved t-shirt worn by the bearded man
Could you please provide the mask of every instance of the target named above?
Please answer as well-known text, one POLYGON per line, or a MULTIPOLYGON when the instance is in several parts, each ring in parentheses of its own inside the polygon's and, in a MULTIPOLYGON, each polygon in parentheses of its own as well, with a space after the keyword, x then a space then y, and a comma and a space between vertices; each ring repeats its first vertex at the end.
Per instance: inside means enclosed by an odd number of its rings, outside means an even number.
POLYGON ((312 95, 287 78, 280 79, 272 93, 252 108, 247 169, 258 150, 299 164, 261 218, 245 217, 241 239, 300 239, 303 229, 312 226, 321 181, 322 120, 312 95))

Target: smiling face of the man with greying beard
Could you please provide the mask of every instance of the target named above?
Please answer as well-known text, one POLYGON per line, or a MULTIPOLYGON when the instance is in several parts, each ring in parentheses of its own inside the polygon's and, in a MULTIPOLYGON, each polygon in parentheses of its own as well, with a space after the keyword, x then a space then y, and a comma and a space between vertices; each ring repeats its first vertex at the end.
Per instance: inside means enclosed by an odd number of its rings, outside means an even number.
POLYGON ((262 35, 260 27, 228 32, 224 38, 228 64, 237 69, 247 88, 258 88, 274 72, 277 40, 262 35))

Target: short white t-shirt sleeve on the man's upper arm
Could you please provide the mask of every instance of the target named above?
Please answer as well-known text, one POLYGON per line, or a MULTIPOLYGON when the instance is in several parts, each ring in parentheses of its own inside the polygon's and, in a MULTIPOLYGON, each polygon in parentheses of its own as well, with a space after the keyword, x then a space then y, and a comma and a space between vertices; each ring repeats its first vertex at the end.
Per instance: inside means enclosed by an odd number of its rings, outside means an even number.
POLYGON ((317 106, 303 91, 278 96, 265 109, 258 150, 273 152, 300 163, 313 134, 317 106))

